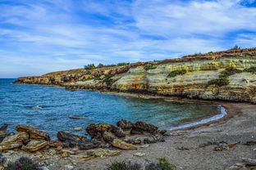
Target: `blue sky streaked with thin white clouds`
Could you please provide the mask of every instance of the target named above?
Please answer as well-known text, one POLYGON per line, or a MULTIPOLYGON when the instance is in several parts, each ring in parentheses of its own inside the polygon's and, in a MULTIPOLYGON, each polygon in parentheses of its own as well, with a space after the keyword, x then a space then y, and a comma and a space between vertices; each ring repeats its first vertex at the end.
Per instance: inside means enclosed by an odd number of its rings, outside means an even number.
POLYGON ((0 78, 256 47, 256 0, 0 0, 0 78))

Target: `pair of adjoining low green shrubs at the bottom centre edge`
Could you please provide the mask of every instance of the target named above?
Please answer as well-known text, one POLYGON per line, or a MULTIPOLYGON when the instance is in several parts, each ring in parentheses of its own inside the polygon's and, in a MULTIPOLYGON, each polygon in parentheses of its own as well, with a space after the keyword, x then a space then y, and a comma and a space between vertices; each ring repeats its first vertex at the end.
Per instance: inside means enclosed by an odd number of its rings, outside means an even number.
POLYGON ((176 166, 168 163, 166 158, 159 158, 158 163, 149 163, 143 168, 138 163, 127 163, 126 161, 111 163, 106 170, 174 170, 176 166))

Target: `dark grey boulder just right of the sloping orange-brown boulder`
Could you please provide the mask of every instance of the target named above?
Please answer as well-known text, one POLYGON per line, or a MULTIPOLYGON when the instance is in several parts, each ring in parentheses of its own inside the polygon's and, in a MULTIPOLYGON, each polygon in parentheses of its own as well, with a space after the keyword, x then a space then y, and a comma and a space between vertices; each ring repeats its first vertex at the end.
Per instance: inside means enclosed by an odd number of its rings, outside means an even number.
POLYGON ((80 142, 80 141, 85 141, 86 136, 80 136, 80 135, 72 134, 71 132, 60 131, 60 132, 57 132, 57 139, 59 141, 80 142))

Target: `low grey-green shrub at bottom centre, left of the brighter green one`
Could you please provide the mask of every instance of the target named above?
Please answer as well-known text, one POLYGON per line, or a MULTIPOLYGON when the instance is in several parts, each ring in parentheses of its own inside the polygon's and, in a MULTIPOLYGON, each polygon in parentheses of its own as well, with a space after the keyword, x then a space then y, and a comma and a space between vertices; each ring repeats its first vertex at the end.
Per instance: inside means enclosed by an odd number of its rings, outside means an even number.
POLYGON ((138 163, 127 163, 126 161, 111 163, 106 170, 142 170, 138 163))

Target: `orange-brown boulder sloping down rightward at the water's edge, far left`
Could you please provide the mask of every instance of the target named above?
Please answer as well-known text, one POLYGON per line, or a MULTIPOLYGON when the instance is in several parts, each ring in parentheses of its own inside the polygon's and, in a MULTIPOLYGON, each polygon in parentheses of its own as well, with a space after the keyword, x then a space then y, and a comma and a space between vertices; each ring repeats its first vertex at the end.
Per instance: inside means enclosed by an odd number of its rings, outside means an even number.
POLYGON ((50 141, 50 136, 47 132, 40 131, 39 129, 35 129, 28 125, 17 125, 16 126, 17 132, 27 132, 30 135, 31 139, 43 139, 46 141, 50 141))

